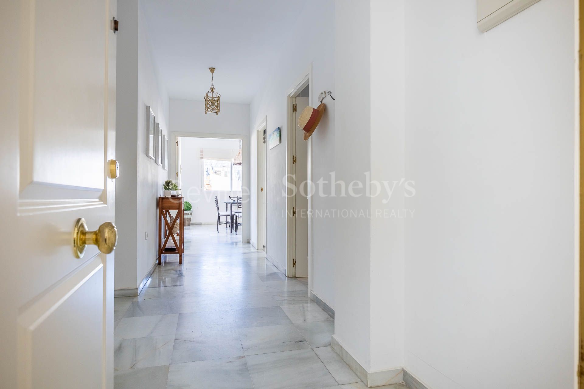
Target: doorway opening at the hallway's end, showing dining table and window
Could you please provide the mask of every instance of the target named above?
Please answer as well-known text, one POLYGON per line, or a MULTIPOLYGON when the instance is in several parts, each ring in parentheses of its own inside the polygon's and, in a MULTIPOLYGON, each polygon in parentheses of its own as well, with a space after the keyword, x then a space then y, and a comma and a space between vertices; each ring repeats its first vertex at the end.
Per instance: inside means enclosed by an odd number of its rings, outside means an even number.
POLYGON ((173 133, 173 138, 176 149, 171 171, 186 209, 192 212, 190 222, 185 218, 187 236, 189 232, 213 233, 233 243, 246 243, 244 136, 173 133))

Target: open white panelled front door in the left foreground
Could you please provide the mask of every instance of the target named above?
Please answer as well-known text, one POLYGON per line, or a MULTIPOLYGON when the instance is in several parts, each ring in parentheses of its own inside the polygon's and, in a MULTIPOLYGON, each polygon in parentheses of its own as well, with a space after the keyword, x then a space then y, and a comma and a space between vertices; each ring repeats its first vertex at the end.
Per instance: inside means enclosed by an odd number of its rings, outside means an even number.
POLYGON ((114 254, 76 258, 72 241, 78 218, 114 222, 115 12, 0 6, 2 388, 113 387, 114 254))

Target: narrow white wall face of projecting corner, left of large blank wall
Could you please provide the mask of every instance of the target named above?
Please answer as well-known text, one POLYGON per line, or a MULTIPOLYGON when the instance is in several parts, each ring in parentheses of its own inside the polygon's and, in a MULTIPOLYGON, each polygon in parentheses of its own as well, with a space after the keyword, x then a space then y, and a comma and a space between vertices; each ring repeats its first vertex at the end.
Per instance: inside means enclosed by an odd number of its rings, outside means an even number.
MULTIPOLYGON (((404 210, 406 0, 372 0, 371 180, 397 183, 389 197, 371 198, 371 215, 404 210), (387 202, 385 202, 387 201, 387 202)), ((373 189, 372 189, 373 191, 373 189)), ((402 214, 405 214, 402 212, 402 214)), ((404 219, 371 219, 371 371, 404 366, 404 219)))

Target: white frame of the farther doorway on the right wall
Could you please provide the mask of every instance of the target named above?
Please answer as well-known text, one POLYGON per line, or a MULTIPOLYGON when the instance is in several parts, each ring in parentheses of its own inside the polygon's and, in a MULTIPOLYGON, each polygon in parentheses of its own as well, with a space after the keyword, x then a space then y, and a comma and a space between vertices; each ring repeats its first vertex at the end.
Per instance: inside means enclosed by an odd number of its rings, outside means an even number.
MULTIPOLYGON (((266 185, 266 177, 267 177, 267 139, 264 139, 264 135, 267 138, 267 116, 263 118, 262 122, 260 122, 259 126, 256 127, 256 135, 258 136, 258 175, 257 175, 257 185, 256 185, 256 193, 258 194, 258 246, 256 247, 258 250, 264 250, 267 252, 267 234, 263 234, 263 227, 267 223, 267 204, 266 204, 266 214, 263 214, 263 205, 262 205, 262 188, 265 192, 266 196, 266 203, 267 203, 267 185, 266 185), (264 170, 262 171, 262 167, 264 170), (265 247, 265 248, 264 248, 265 247)), ((266 226, 267 227, 267 226, 266 226)), ((266 228, 267 230, 267 228, 266 228)))

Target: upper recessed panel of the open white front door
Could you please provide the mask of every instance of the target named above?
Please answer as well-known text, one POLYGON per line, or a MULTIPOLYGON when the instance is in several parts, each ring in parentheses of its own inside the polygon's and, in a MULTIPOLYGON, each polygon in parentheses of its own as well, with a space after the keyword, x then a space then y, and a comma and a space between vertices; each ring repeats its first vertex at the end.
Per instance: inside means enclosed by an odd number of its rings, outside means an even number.
POLYGON ((26 85, 20 89, 26 92, 22 117, 29 118, 22 128, 21 191, 33 182, 102 190, 106 4, 60 0, 30 6, 30 33, 23 36, 26 85))

